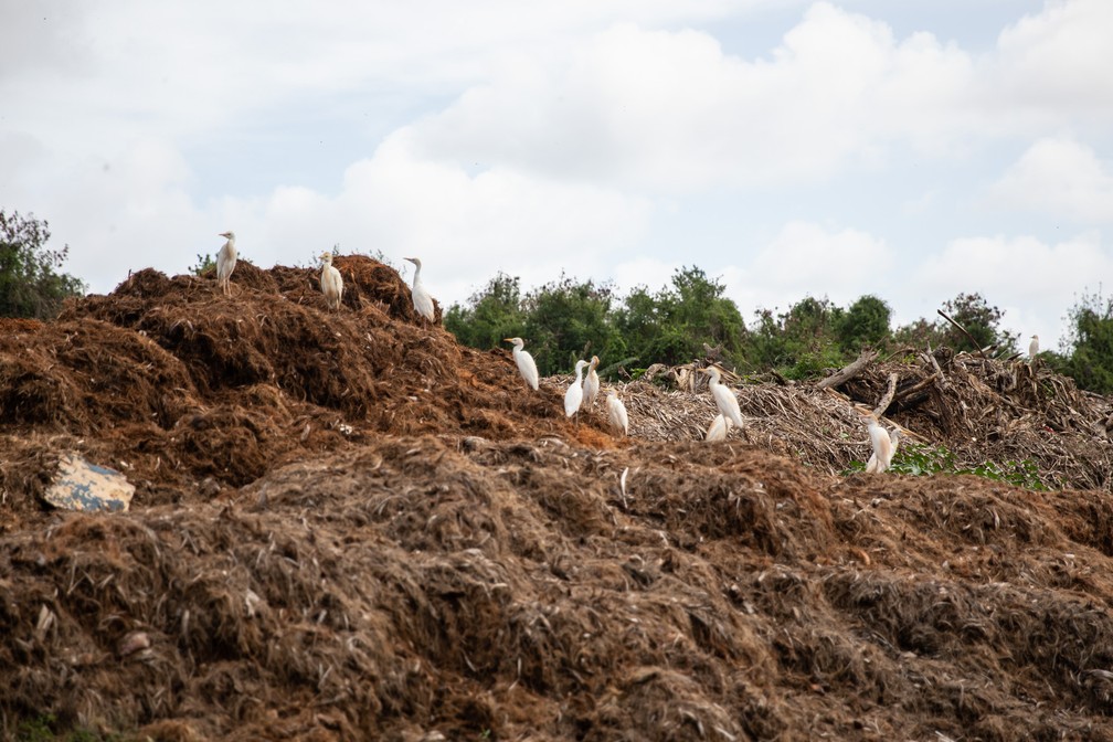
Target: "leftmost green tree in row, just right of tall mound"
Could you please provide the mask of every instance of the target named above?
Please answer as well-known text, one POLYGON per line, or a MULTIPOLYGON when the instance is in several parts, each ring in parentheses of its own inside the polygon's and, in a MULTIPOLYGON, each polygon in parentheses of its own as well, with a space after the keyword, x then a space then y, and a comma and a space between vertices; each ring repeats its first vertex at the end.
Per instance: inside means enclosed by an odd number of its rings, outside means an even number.
MULTIPOLYGON (((444 327, 460 343, 484 350, 504 345, 503 339, 508 337, 525 337, 525 311, 518 276, 500 271, 482 290, 472 294, 466 306, 453 304, 444 313, 444 327)), ((533 344, 530 345, 535 357, 533 344)))

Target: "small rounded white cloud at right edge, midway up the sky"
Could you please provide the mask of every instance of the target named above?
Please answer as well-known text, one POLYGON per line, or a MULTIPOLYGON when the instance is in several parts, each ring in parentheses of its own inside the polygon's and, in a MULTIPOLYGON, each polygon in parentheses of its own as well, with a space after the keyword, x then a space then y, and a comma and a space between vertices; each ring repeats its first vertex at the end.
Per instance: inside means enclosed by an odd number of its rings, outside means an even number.
POLYGON ((1113 221, 1113 167, 1073 139, 1041 139, 989 189, 995 201, 1089 224, 1113 221))

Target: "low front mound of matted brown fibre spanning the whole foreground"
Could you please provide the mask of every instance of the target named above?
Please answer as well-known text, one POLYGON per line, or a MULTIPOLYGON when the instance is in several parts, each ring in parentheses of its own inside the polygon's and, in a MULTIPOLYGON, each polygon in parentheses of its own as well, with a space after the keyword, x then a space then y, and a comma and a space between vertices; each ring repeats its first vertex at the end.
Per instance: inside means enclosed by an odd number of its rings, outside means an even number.
POLYGON ((226 504, 71 515, 0 541, 3 711, 155 739, 1113 739, 1086 525, 1111 498, 880 479, 391 437, 226 504))

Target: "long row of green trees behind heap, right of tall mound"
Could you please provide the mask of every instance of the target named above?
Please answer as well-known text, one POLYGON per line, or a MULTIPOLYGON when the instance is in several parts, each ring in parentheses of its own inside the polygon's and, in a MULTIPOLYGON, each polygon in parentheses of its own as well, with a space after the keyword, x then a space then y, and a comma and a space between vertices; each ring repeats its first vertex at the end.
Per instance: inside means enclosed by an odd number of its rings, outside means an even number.
MULTIPOLYGON (((1018 334, 1002 327, 1004 313, 979 294, 958 294, 943 309, 979 348, 1015 349, 1018 334)), ((1090 323, 1083 323, 1086 338, 1097 332, 1092 315, 1102 316, 1092 308, 1078 316, 1090 323)), ((521 336, 543 375, 568 373, 578 358, 594 354, 603 358, 604 373, 710 357, 751 373, 808 378, 849 363, 867 346, 973 349, 969 338, 942 317, 894 329, 892 308, 871 294, 846 307, 806 296, 786 311, 760 308, 754 317, 747 328, 725 284, 691 266, 678 269, 658 290, 638 286, 621 299, 609 284, 568 276, 523 294, 516 277, 500 273, 465 305, 450 307, 444 324, 461 343, 483 349, 521 336)))

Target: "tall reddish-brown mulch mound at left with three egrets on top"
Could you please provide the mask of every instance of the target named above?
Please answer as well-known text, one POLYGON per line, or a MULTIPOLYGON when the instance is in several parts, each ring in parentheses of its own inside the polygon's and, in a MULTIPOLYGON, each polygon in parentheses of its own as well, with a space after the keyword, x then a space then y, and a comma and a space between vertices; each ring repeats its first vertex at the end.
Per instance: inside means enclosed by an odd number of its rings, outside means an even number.
MULTIPOLYGON (((335 265, 338 313, 316 271, 240 261, 232 298, 211 279, 146 269, 57 321, 0 319, 0 435, 120 468, 137 504, 188 498, 208 479, 210 494, 243 486, 383 434, 608 439, 564 419, 556 382, 526 394, 509 352, 462 347, 422 320, 392 268, 335 265)), ((57 457, 33 474, 23 461, 0 455, 0 484, 21 502, 57 457)), ((16 522, 7 513, 0 531, 16 522)))

